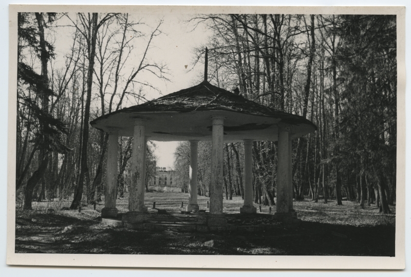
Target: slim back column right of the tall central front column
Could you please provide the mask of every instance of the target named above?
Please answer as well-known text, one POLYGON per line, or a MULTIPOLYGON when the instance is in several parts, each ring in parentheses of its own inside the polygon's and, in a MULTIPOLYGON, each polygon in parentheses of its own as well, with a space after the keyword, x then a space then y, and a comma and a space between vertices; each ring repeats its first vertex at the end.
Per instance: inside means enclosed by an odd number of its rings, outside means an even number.
POLYGON ((253 206, 253 141, 244 140, 244 206, 240 213, 256 213, 253 206))

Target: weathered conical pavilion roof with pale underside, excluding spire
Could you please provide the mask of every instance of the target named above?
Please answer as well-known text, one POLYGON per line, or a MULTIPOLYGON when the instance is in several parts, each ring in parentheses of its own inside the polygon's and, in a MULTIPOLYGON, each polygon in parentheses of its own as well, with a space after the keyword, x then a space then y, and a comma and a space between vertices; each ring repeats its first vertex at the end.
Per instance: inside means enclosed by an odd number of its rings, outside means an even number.
POLYGON ((146 119, 145 133, 159 141, 211 140, 211 117, 224 116, 225 141, 276 140, 279 125, 289 125, 293 137, 311 133, 309 120, 258 104, 203 81, 146 103, 117 110, 90 122, 121 136, 133 136, 134 120, 146 119))

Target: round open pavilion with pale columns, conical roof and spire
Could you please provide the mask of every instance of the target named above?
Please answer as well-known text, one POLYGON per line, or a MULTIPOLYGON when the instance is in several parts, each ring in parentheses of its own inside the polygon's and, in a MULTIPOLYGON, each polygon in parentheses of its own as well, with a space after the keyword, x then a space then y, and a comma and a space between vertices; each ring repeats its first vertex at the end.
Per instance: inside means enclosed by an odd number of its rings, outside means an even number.
POLYGON ((244 142, 244 206, 240 213, 256 213, 253 206, 252 142, 278 141, 277 216, 295 217, 292 205, 291 141, 314 132, 309 120, 248 100, 207 81, 207 51, 204 81, 146 103, 117 110, 90 122, 108 133, 105 206, 102 217, 116 217, 118 137, 134 137, 132 183, 126 223, 146 220, 144 206, 147 139, 190 141, 190 186, 187 211, 198 210, 197 146, 211 141, 210 213, 208 226, 224 226, 223 147, 227 142, 244 142))

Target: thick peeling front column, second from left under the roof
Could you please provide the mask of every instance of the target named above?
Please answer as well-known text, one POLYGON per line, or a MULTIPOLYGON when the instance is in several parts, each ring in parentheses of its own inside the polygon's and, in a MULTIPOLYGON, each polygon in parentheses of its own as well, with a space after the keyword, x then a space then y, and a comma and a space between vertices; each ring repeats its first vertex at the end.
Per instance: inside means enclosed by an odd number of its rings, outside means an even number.
POLYGON ((144 209, 145 127, 142 119, 134 122, 129 212, 123 215, 125 223, 140 223, 146 219, 144 209))

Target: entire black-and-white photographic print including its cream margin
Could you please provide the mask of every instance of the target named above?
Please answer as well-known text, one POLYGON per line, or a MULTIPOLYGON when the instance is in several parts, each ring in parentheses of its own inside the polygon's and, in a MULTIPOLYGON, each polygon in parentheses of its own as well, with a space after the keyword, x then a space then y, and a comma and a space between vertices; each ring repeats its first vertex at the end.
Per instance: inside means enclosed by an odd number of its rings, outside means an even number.
POLYGON ((13 255, 404 267, 405 9, 106 10, 10 11, 13 255))

